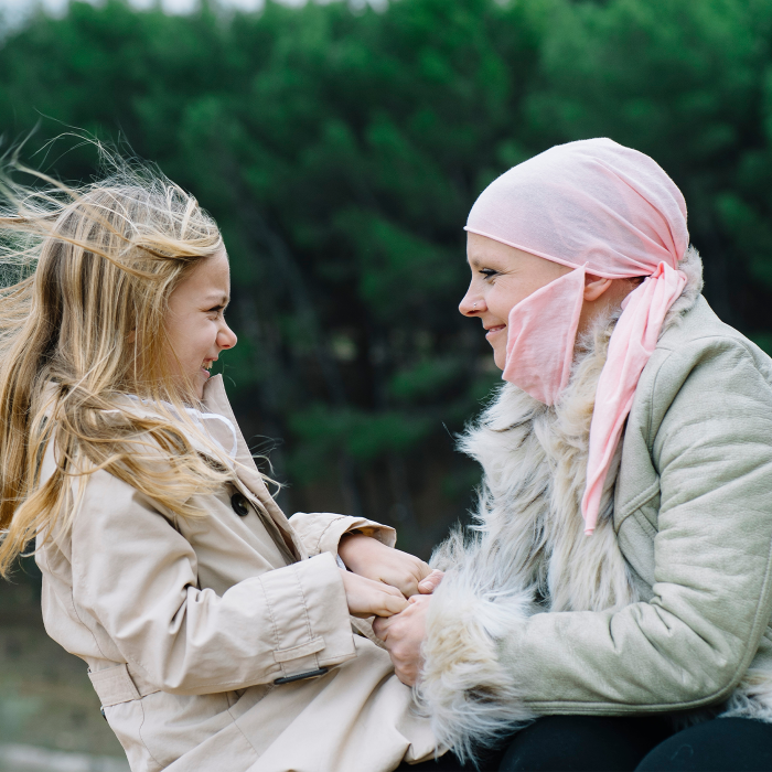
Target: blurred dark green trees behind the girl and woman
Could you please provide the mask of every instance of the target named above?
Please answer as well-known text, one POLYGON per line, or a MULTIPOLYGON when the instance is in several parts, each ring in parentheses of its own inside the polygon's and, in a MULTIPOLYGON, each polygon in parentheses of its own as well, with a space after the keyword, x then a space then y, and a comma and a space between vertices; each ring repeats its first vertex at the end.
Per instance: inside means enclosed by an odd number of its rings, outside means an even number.
MULTIPOLYGON (((465 516, 479 475, 453 436, 498 373, 455 308, 462 227, 491 180, 553 144, 605 136, 655 158, 709 302, 772 350, 769 0, 108 0, 3 30, 6 148, 36 127, 25 160, 84 180, 93 151, 49 139, 126 141, 221 224, 239 335, 223 372, 288 514, 362 513, 423 557, 465 516)), ((7 619, 39 615, 35 581, 0 590, 7 619)))

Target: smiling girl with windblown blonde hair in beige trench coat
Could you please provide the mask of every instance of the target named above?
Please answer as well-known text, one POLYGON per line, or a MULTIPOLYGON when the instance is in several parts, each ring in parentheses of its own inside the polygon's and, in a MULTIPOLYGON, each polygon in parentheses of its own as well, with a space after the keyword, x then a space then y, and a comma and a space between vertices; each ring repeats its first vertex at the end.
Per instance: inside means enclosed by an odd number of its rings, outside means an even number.
POLYGON ((210 377, 236 345, 213 219, 147 167, 49 183, 7 183, 0 218, 19 271, 0 297, 0 571, 36 539, 46 630, 87 663, 132 771, 432 757, 350 616, 400 611, 429 569, 389 528, 290 525, 272 501, 210 377))

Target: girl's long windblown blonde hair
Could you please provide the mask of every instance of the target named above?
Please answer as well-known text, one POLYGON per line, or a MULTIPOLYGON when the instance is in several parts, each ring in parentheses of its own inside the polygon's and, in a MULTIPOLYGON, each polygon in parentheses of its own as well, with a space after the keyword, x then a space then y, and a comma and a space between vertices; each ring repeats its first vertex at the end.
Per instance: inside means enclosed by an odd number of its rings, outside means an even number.
POLYGON ((33 538, 69 527, 97 470, 172 516, 199 514, 191 496, 233 478, 183 426, 192 390, 172 377, 164 326, 174 288, 224 248, 219 229, 154 167, 100 152, 108 173, 85 185, 0 173, 2 576, 33 538), (137 410, 144 400, 152 411, 137 410))

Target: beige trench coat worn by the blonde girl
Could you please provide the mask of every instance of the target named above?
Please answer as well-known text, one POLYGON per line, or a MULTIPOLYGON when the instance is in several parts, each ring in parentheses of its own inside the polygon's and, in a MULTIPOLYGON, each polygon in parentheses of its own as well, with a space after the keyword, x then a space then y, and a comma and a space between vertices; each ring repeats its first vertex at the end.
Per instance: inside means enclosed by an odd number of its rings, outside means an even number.
MULTIPOLYGON (((236 426, 221 377, 204 405, 236 426)), ((344 533, 394 546, 394 532, 332 514, 290 525, 236 435, 247 471, 201 497, 205 518, 92 475, 72 532, 37 553, 49 634, 87 663, 132 772, 387 772, 431 757, 388 654, 352 633, 335 561, 344 533)), ((43 479, 52 468, 49 454, 43 479)))

